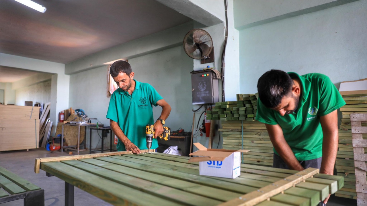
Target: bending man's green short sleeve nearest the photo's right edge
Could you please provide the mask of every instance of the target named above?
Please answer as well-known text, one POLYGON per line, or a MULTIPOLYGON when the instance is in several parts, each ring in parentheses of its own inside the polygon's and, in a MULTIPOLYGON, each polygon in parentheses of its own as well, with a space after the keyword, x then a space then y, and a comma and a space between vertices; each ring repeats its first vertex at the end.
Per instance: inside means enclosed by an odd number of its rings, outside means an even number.
POLYGON ((319 84, 320 103, 318 113, 320 116, 327 115, 345 105, 344 99, 329 77, 324 76, 319 84))

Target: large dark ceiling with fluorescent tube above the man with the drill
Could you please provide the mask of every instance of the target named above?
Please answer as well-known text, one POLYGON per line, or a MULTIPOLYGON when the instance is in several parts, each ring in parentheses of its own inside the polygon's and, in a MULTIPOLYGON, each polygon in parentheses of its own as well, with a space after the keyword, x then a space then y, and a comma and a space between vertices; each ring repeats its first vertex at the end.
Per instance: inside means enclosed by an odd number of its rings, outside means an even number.
POLYGON ((191 21, 155 0, 0 0, 0 52, 69 63, 191 21))

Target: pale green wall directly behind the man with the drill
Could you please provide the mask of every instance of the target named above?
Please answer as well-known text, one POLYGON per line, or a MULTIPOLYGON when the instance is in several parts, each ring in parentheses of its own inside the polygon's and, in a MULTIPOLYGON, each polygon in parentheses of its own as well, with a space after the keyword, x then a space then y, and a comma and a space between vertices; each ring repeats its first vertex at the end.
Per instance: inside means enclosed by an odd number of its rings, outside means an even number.
MULTIPOLYGON (((172 111, 166 125, 172 130, 179 127, 190 130, 192 122, 192 100, 190 59, 181 47, 129 59, 135 79, 151 84, 171 105, 172 111)), ((98 118, 109 126, 106 113, 110 98, 107 96, 108 67, 98 67, 70 75, 69 106, 82 108, 90 118, 98 118)), ((154 118, 158 118, 161 107, 153 108, 154 118)), ((92 120, 93 121, 93 120, 92 120)), ((99 133, 101 135, 101 133, 99 133)), ((89 131, 87 131, 89 137, 89 131)), ((92 148, 97 146, 99 137, 92 135, 92 148)), ((101 143, 98 144, 98 146, 101 143)), ((89 138, 87 140, 89 146, 89 138)), ((105 148, 109 147, 109 140, 105 148)))

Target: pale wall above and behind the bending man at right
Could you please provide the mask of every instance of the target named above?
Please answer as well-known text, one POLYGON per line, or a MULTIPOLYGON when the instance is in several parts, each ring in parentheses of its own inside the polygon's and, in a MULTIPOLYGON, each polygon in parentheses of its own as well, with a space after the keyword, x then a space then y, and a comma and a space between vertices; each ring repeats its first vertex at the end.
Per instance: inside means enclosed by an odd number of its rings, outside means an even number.
POLYGON ((240 91, 270 69, 323 73, 334 84, 367 77, 367 0, 240 31, 240 91))

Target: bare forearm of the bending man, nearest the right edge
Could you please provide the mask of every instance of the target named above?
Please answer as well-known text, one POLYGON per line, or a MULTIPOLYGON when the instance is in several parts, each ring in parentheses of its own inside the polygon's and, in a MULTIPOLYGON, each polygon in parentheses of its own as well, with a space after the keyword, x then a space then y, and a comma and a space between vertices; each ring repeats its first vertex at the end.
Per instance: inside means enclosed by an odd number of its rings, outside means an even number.
POLYGON ((320 173, 334 174, 334 164, 338 152, 338 130, 324 133, 322 147, 322 161, 320 173))

